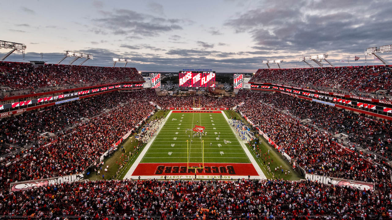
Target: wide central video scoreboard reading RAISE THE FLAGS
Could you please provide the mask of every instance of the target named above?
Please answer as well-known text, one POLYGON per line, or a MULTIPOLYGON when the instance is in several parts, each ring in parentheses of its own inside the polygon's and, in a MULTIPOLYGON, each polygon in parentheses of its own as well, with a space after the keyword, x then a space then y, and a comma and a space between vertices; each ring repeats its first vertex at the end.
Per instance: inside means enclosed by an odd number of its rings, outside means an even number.
POLYGON ((180 71, 180 87, 215 87, 215 71, 180 71))

